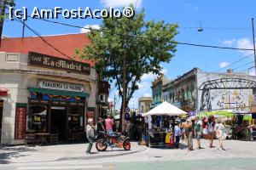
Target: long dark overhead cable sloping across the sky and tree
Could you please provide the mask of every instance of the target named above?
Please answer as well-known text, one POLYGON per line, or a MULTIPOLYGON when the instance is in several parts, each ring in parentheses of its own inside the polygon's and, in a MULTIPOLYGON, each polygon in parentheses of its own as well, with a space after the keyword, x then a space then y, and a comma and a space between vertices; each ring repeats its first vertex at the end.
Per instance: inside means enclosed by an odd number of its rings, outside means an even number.
MULTIPOLYGON (((70 24, 67 24, 67 23, 58 22, 58 21, 54 21, 54 20, 46 20, 46 19, 41 19, 41 18, 34 18, 34 19, 44 20, 44 21, 55 23, 55 24, 62 25, 62 26, 71 26, 71 27, 74 27, 74 28, 80 28, 80 29, 85 29, 85 30, 90 30, 90 31, 102 31, 102 30, 93 29, 91 27, 85 28, 84 26, 74 26, 74 25, 70 25, 70 24)), ((116 33, 116 32, 114 32, 114 33, 113 32, 108 32, 108 31, 102 31, 102 32, 116 34, 116 35, 124 36, 124 37, 133 37, 133 38, 137 38, 137 39, 148 39, 150 41, 159 41, 157 39, 154 39, 154 37, 153 38, 137 37, 137 36, 125 35, 125 34, 116 33)), ((175 42, 175 41, 172 41, 171 43, 177 43, 177 44, 180 44, 180 45, 189 45, 189 46, 195 46, 195 47, 204 47, 204 48, 219 48, 219 49, 233 49, 233 50, 242 50, 242 51, 253 51, 253 49, 251 49, 251 48, 229 48, 229 47, 220 47, 220 46, 213 46, 213 45, 195 44, 195 43, 189 43, 189 42, 175 42)))

